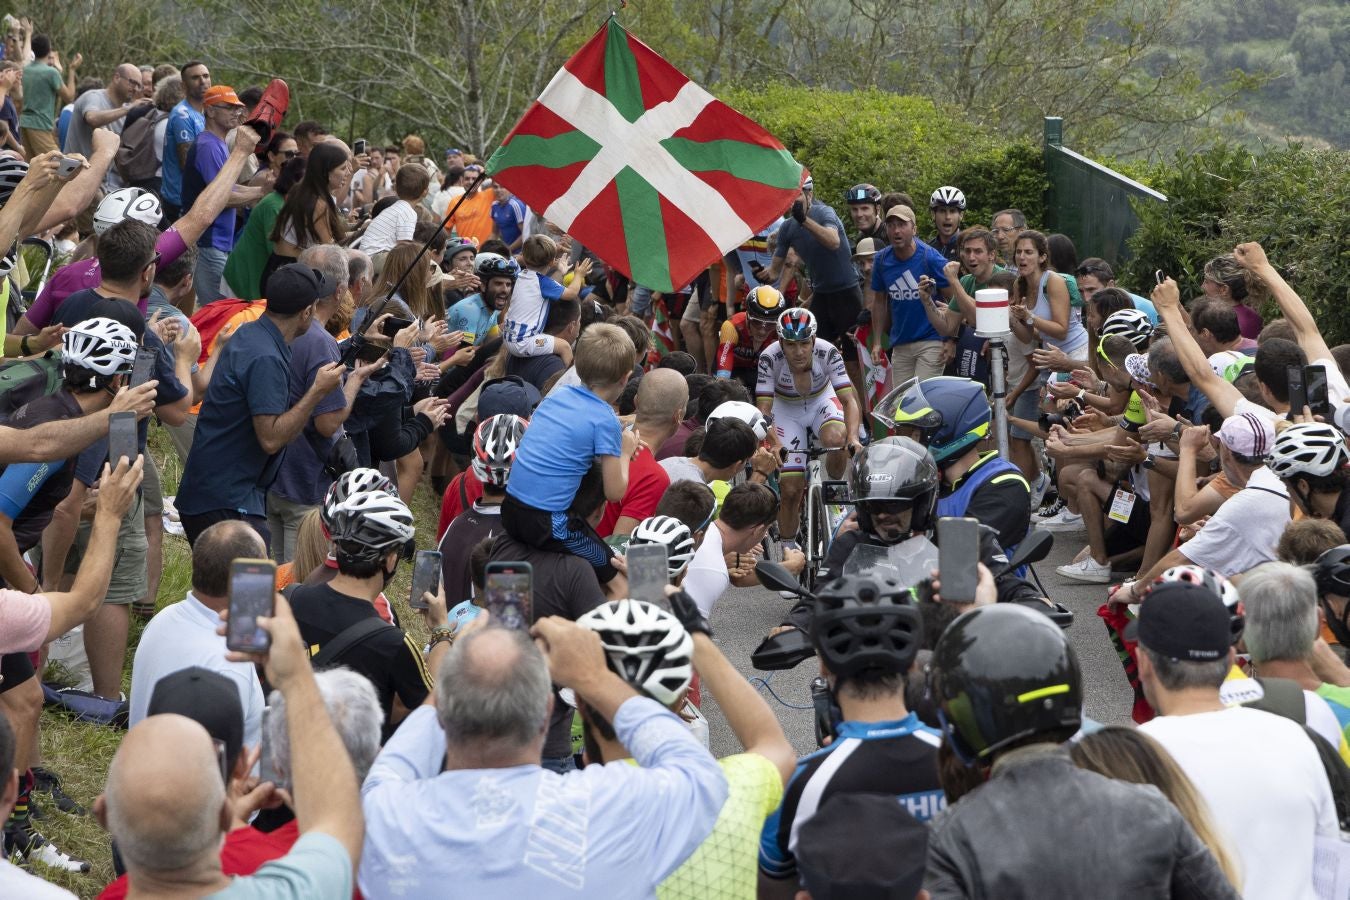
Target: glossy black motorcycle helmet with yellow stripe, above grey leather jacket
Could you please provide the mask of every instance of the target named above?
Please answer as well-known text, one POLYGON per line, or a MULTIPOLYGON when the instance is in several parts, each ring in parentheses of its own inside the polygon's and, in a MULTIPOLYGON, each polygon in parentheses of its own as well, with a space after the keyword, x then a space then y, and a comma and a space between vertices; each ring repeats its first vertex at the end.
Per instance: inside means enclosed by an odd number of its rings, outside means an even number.
POLYGON ((952 622, 933 650, 929 691, 942 733, 967 765, 1037 734, 1083 723, 1079 657, 1048 617, 995 603, 952 622))

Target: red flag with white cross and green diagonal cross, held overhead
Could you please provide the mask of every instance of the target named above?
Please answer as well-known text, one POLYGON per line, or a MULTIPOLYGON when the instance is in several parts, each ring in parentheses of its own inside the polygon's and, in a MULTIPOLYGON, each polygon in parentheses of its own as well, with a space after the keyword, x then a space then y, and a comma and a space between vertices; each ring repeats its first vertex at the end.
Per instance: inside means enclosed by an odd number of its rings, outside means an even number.
POLYGON ((791 205, 802 166, 613 18, 544 88, 489 173, 634 282, 691 282, 791 205))

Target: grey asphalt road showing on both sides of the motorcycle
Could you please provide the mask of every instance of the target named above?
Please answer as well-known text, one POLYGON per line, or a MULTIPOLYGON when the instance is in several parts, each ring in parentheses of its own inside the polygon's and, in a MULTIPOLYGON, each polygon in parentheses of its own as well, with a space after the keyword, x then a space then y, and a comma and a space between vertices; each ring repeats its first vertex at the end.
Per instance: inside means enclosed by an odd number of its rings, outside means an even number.
MULTIPOLYGON (((1035 565, 1041 582, 1050 596, 1073 610, 1075 621, 1069 629, 1069 640, 1079 654, 1083 667, 1083 683, 1087 694, 1087 715, 1104 723, 1125 723, 1130 721, 1130 704, 1134 696, 1125 672, 1107 638, 1106 626, 1098 618, 1096 610, 1106 599, 1104 584, 1079 584, 1054 572, 1073 559, 1084 544, 1083 534, 1056 534, 1050 556, 1035 565)), ((810 683, 815 675, 815 661, 810 660, 788 672, 759 672, 751 668, 751 652, 780 623, 791 602, 776 592, 764 588, 732 588, 713 611, 713 631, 728 658, 749 679, 765 679, 783 703, 774 699, 767 688, 760 687, 778 714, 783 730, 798 753, 815 749, 813 729, 810 683), (790 708, 790 703, 805 708, 790 708)), ((703 715, 711 730, 713 753, 718 757, 740 752, 736 735, 726 725, 717 700, 710 692, 703 692, 703 715)))

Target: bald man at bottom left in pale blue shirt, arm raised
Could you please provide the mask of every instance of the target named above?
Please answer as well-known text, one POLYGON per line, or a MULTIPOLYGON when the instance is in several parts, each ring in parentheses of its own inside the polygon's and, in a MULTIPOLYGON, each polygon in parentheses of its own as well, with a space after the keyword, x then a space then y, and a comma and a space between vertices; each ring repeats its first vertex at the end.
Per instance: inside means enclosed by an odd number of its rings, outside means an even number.
MULTIPOLYGON (((351 895, 363 837, 356 772, 328 718, 290 607, 279 594, 275 602, 277 614, 258 619, 271 636, 271 653, 230 658, 262 663, 267 681, 286 699, 300 839, 251 876, 225 876, 220 842, 232 810, 211 735, 185 716, 151 715, 127 731, 94 801, 94 815, 117 842, 135 896, 351 895)), ((251 811, 240 812, 246 818, 251 811)))

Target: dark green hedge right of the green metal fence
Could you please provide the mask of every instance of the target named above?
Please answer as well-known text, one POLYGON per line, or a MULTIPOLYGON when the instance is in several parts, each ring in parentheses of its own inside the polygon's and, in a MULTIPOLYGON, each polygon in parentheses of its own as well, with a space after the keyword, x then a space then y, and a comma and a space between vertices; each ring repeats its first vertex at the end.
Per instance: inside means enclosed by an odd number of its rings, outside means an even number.
POLYGON ((1168 202, 1135 204, 1141 228, 1123 283, 1152 283, 1162 269, 1195 297, 1208 259, 1258 240, 1327 340, 1350 341, 1350 151, 1216 147, 1176 158, 1149 184, 1168 202))

